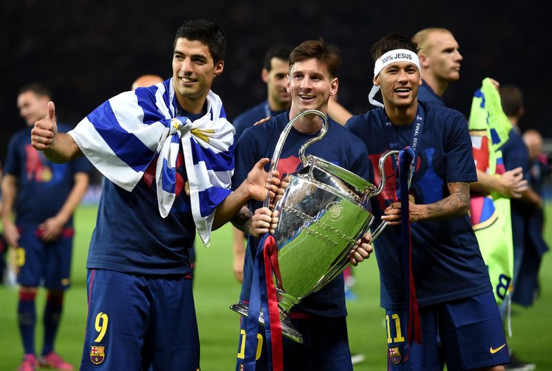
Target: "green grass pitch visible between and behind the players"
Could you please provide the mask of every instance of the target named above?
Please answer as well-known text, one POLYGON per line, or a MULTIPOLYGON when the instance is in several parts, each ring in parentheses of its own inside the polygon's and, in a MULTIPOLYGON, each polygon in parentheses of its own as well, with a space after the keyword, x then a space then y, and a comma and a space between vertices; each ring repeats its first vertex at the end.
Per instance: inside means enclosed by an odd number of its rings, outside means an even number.
MULTIPOLYGON (((86 319, 86 255, 90 234, 95 224, 96 208, 81 206, 75 216, 77 234, 72 265, 72 288, 66 295, 57 352, 78 366, 83 346, 86 319)), ((549 221, 546 241, 552 245, 552 205, 546 208, 549 221)), ((199 241, 199 240, 198 240, 199 241)), ((232 273, 231 228, 224 226, 213 233, 210 248, 197 248, 195 274, 195 307, 201 340, 201 370, 228 371, 234 369, 237 354, 239 319, 228 306, 239 295, 239 283, 232 273)), ((540 281, 542 294, 531 308, 513 306, 509 346, 526 361, 536 363, 537 370, 552 370, 552 357, 546 349, 552 341, 552 255, 546 254, 540 281)), ((353 272, 356 301, 347 303, 351 352, 362 353, 366 361, 354 366, 355 371, 386 370, 386 330, 383 310, 379 307, 379 279, 375 257, 362 263, 353 272)), ((41 349, 41 310, 43 290, 37 302, 37 350, 41 349)), ((23 348, 17 330, 17 291, 0 286, 0 370, 16 370, 23 348)), ((77 367, 78 368, 78 367, 77 367)))

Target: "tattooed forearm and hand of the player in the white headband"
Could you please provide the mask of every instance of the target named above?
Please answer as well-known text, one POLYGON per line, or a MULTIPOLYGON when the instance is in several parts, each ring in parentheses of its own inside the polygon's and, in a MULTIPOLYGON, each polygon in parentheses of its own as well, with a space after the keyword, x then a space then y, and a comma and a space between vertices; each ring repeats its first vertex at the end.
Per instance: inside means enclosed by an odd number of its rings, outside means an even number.
MULTIPOLYGON (((463 217, 470 208, 470 185, 465 182, 448 183, 450 195, 444 199, 417 205, 410 203, 410 221, 444 220, 463 217)), ((389 225, 399 225, 401 221, 401 204, 391 203, 382 217, 389 225)))

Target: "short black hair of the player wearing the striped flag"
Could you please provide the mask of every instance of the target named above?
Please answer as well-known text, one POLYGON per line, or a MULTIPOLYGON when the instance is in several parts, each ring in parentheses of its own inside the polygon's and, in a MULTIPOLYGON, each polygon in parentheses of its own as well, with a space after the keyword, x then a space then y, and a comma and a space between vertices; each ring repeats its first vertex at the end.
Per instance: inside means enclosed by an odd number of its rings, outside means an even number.
POLYGON ((206 19, 194 19, 182 23, 182 26, 177 30, 172 50, 175 49, 177 40, 180 38, 201 41, 209 48, 213 62, 217 63, 224 60, 226 37, 224 37, 222 30, 215 23, 206 19))

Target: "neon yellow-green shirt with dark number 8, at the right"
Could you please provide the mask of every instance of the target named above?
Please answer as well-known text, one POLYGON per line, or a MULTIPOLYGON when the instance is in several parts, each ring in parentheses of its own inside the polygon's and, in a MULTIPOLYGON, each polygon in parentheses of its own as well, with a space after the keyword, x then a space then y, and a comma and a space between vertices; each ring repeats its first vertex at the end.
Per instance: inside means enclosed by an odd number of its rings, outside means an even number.
MULTIPOLYGON (((499 148, 512 130, 502 111, 500 94, 491 79, 486 78, 471 105, 469 130, 475 167, 486 174, 504 174, 499 148)), ((471 193, 470 214, 482 257, 489 268, 489 277, 497 304, 509 293, 513 276, 513 240, 510 200, 500 194, 471 193)))

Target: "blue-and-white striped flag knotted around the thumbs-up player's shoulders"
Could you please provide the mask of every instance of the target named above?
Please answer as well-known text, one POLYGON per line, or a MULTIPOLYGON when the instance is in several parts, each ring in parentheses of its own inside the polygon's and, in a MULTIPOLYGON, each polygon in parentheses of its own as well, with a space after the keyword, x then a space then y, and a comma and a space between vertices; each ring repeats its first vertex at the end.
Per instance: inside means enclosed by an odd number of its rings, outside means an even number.
POLYGON ((212 91, 206 114, 195 121, 179 117, 177 107, 171 78, 109 99, 69 134, 106 178, 129 192, 158 157, 155 181, 161 217, 168 215, 175 201, 181 142, 193 218, 208 246, 215 209, 231 192, 235 130, 212 91))

